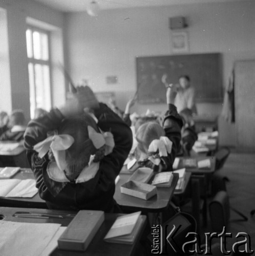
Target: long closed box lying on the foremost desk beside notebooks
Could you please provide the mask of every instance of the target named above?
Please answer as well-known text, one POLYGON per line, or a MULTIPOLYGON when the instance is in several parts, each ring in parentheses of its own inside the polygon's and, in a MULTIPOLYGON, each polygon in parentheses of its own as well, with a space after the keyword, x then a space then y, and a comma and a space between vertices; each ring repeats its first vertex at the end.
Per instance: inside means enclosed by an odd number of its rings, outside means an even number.
POLYGON ((80 210, 58 239, 58 248, 85 251, 103 222, 103 211, 80 210))

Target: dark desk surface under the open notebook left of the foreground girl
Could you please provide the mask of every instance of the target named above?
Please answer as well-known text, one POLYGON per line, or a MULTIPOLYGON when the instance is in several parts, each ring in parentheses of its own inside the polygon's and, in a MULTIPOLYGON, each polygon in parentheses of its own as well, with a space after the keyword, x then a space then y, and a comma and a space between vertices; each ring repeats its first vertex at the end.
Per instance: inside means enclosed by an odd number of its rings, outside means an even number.
MULTIPOLYGON (((34 175, 30 168, 21 168, 20 171, 13 177, 13 179, 34 179, 34 175)), ((47 205, 37 193, 32 198, 21 198, 21 197, 0 197, 0 205, 8 207, 25 207, 25 208, 45 208, 47 205)))

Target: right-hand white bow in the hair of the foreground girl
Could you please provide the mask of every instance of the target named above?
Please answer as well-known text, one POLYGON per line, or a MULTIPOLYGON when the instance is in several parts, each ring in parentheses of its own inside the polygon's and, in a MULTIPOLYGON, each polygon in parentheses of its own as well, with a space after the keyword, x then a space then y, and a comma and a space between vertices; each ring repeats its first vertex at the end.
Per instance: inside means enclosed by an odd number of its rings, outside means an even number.
POLYGON ((115 145, 112 133, 97 133, 94 128, 88 125, 88 137, 97 149, 105 145, 105 156, 112 152, 115 145))

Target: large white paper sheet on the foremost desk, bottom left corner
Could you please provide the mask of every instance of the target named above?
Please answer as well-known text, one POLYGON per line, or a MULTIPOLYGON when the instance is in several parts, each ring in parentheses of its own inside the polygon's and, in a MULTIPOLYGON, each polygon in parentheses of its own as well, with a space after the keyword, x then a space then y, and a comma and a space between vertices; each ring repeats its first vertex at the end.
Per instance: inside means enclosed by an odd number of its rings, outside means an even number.
POLYGON ((41 255, 60 224, 0 221, 0 255, 41 255))

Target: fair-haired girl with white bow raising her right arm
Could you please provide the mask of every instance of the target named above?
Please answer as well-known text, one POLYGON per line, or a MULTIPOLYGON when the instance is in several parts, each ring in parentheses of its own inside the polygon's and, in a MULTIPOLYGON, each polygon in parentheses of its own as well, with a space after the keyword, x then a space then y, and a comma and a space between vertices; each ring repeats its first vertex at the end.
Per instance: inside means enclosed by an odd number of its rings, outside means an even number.
POLYGON ((138 127, 137 147, 134 155, 138 163, 148 167, 159 165, 163 170, 172 170, 176 153, 180 147, 182 120, 173 104, 176 89, 167 88, 168 111, 163 126, 157 121, 149 121, 138 127))

